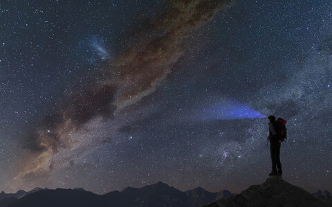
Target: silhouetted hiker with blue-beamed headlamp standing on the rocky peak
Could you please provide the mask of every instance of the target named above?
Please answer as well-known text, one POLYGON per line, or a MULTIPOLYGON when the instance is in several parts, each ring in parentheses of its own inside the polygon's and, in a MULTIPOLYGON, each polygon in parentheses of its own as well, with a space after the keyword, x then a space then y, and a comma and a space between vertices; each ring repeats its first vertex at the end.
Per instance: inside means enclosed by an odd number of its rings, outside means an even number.
POLYGON ((270 174, 268 175, 269 176, 278 175, 281 177, 282 163, 280 162, 280 146, 284 141, 282 136, 283 134, 282 124, 279 121, 275 120, 275 116, 273 115, 268 116, 268 129, 269 129, 268 141, 270 141, 270 152, 272 160, 272 172, 270 172, 270 174))

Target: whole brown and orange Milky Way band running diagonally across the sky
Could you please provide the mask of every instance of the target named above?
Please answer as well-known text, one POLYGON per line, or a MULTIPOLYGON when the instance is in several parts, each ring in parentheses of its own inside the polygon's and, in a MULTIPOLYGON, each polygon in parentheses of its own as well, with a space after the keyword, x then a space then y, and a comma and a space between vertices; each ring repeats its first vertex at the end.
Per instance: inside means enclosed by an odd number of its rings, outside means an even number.
MULTIPOLYGON (((173 0, 158 17, 141 26, 135 42, 108 60, 92 84, 73 92, 23 138, 15 180, 44 179, 81 145, 75 133, 94 118, 121 116, 126 107, 154 93, 185 55, 184 41, 231 0, 173 0)), ((104 53, 104 51, 100 51, 104 53)))

